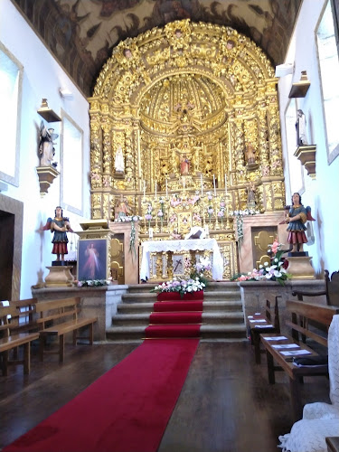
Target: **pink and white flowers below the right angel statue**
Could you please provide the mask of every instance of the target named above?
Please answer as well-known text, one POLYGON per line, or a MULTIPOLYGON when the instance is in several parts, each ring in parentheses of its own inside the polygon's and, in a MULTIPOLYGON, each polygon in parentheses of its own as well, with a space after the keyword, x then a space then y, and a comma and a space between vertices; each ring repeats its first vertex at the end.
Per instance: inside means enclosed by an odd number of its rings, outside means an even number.
POLYGON ((231 278, 232 281, 262 281, 270 280, 277 281, 280 286, 285 286, 285 281, 291 278, 287 273, 288 262, 282 258, 282 255, 287 250, 281 250, 281 243, 276 239, 272 245, 268 245, 270 250, 268 253, 272 254, 270 265, 264 262, 264 265, 259 265, 259 269, 253 268, 249 273, 239 273, 231 278))

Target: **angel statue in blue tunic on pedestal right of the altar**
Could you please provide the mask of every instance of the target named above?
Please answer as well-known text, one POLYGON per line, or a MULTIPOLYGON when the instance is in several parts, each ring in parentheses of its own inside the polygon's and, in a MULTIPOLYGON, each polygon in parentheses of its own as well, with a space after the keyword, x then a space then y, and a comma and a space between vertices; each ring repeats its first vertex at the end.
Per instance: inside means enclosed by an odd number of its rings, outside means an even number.
POLYGON ((292 206, 286 206, 287 211, 286 222, 288 223, 288 243, 292 244, 292 252, 303 252, 304 243, 307 243, 306 238, 306 221, 315 221, 311 214, 311 208, 309 206, 304 207, 301 202, 301 196, 299 193, 293 193, 292 206))

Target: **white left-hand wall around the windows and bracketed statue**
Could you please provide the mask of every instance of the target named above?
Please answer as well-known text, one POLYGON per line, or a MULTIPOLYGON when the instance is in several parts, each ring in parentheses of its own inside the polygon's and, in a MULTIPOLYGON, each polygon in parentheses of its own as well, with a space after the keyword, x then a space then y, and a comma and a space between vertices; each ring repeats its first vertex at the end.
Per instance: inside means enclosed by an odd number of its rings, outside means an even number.
MULTIPOLYGON (((80 231, 81 218, 90 218, 89 202, 89 104, 80 90, 61 69, 41 40, 18 13, 10 0, 0 1, 0 42, 14 54, 24 66, 22 122, 20 137, 20 175, 19 186, 8 184, 3 194, 24 202, 24 240, 22 255, 22 279, 20 297, 32 297, 31 286, 48 274, 46 266, 52 265, 52 234, 50 231, 38 231, 41 222, 53 217, 54 209, 61 202, 61 177, 58 176, 47 194, 40 195, 40 186, 36 167, 38 158, 38 132, 42 118, 37 109, 42 98, 48 99, 48 105, 59 116, 61 108, 83 130, 83 177, 74 180, 82 184, 84 190, 83 217, 64 211, 70 217, 71 227, 80 231), (62 99, 59 89, 67 88, 73 93, 73 99, 62 99)), ((44 121, 45 122, 45 121, 44 121)), ((45 122, 48 126, 48 123, 45 122)), ((55 133, 60 134, 61 123, 52 123, 55 133)), ((60 162, 61 137, 56 140, 54 160, 60 162)), ((60 171, 60 165, 57 169, 60 171)), ((63 206, 64 207, 64 206, 63 206)), ((69 234, 69 240, 71 240, 69 234)))

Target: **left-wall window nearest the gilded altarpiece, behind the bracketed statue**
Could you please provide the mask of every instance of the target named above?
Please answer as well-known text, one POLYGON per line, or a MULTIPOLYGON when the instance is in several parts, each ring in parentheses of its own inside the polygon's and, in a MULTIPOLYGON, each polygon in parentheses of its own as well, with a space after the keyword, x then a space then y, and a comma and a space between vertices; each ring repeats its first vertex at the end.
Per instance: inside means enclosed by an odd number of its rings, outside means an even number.
POLYGON ((82 215, 83 131, 64 112, 61 121, 61 205, 82 215))

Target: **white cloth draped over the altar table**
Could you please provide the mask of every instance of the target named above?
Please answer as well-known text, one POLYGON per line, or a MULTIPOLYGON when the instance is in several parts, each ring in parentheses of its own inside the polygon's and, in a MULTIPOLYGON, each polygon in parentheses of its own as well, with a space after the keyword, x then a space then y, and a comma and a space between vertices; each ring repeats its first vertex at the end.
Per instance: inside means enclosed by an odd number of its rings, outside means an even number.
POLYGON ((144 241, 142 244, 142 258, 140 266, 140 279, 149 278, 149 263, 151 252, 163 251, 188 251, 188 250, 212 250, 212 278, 222 279, 223 259, 218 242, 215 239, 192 239, 192 240, 155 240, 144 241))

